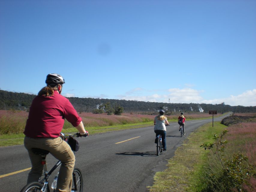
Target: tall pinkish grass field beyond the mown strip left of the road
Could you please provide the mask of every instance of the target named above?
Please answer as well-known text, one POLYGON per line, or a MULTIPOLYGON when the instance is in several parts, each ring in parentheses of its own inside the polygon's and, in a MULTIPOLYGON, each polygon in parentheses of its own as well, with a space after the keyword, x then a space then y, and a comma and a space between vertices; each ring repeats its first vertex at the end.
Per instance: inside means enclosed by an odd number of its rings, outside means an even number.
MULTIPOLYGON (((155 115, 143 115, 139 113, 122 113, 121 116, 93 113, 79 113, 79 115, 82 117, 85 127, 102 127, 151 122, 155 118, 155 115)), ((177 113, 177 115, 167 116, 167 119, 169 121, 176 121, 178 116, 179 113, 177 113)), ((208 113, 185 113, 186 119, 210 117, 211 115, 208 113)), ((25 128, 27 118, 28 112, 26 111, 0 110, 0 134, 22 133, 25 128)))

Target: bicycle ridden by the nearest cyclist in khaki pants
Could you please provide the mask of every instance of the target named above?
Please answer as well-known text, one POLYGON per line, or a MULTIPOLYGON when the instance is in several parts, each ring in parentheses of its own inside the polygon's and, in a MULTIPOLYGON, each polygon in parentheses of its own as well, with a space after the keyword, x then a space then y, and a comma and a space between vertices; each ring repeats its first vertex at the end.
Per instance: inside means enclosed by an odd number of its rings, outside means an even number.
MULTIPOLYGON (((65 140, 68 143, 68 140, 72 137, 80 137, 80 134, 74 134, 74 135, 64 135, 61 133, 61 136, 63 140, 65 140)), ((71 147, 72 149, 72 147, 71 147)), ((74 150, 72 149, 74 152, 74 150)), ((38 182, 32 182, 27 185, 25 185, 20 192, 50 192, 50 187, 49 187, 49 176, 53 173, 54 170, 56 170, 60 165, 61 162, 58 161, 53 168, 47 172, 47 167, 46 167, 46 155, 49 153, 49 151, 44 150, 44 149, 38 149, 38 148, 32 148, 32 152, 41 155, 42 156, 42 161, 41 164, 44 165, 44 178, 41 179, 39 178, 38 182)), ((59 172, 58 172, 59 174, 59 172)), ((73 175, 72 175, 72 189, 71 192, 82 192, 83 191, 83 177, 80 169, 74 168, 73 175)), ((57 182, 58 175, 55 176, 51 188, 53 191, 56 189, 56 182, 57 182)))

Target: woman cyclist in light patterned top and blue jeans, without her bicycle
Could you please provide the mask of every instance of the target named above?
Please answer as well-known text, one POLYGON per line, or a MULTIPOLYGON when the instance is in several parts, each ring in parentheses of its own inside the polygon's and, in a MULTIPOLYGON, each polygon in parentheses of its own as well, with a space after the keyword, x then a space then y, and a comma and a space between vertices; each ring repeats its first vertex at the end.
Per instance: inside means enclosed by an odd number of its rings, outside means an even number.
POLYGON ((163 142, 163 148, 164 148, 164 151, 166 151, 166 142, 165 142, 166 127, 165 127, 165 125, 169 125, 169 122, 167 121, 166 116, 164 116, 164 113, 165 113, 164 110, 160 110, 159 115, 155 117, 154 131, 155 131, 155 143, 157 143, 159 135, 161 135, 162 142, 163 142))

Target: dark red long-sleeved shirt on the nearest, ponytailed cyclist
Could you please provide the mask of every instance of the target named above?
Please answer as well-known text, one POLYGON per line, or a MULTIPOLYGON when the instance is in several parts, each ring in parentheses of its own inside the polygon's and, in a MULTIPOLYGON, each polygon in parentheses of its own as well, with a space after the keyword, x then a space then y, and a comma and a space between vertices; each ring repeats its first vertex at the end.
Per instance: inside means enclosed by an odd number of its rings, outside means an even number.
POLYGON ((59 137, 65 118, 74 127, 82 121, 70 101, 58 91, 51 97, 36 96, 23 133, 32 138, 59 137))

